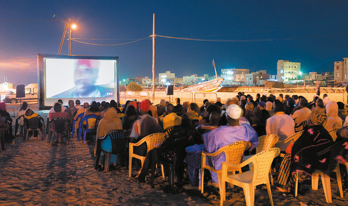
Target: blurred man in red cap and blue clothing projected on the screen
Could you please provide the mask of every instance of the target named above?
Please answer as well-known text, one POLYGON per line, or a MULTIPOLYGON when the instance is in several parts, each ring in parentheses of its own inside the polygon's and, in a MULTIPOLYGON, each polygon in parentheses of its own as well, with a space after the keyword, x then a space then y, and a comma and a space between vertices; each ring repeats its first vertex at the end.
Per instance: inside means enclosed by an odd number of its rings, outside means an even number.
POLYGON ((51 98, 107 97, 114 95, 114 88, 95 85, 99 74, 98 60, 79 59, 74 69, 75 87, 51 98))

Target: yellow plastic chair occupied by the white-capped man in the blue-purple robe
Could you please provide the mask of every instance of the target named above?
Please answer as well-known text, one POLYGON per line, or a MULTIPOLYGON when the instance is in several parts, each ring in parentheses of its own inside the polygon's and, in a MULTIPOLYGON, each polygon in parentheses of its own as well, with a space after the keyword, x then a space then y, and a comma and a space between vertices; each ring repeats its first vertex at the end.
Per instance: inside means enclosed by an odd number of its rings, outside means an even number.
MULTIPOLYGON (((215 156, 221 154, 222 152, 224 152, 225 157, 226 157, 226 159, 225 159, 226 162, 236 165, 236 164, 240 163, 246 147, 247 147, 247 142, 238 141, 238 142, 234 142, 232 144, 229 144, 225 147, 222 147, 217 152, 214 152, 214 153, 202 152, 201 169, 200 169, 200 192, 203 193, 204 169, 208 169, 208 170, 216 172, 218 174, 219 189, 221 191, 221 172, 222 172, 222 170, 221 169, 215 170, 214 167, 206 165, 207 156, 215 157, 215 156)), ((230 171, 232 171, 233 174, 235 173, 235 170, 230 170, 230 171)), ((237 169, 237 171, 239 171, 239 173, 240 173, 241 169, 239 168, 239 169, 237 169)))

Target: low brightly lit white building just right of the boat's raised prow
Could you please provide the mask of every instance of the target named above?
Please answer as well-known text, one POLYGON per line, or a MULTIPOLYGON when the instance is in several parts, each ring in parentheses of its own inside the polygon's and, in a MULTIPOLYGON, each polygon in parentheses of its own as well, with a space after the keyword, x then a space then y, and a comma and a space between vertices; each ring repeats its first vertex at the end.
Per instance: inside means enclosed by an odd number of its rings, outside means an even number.
POLYGON ((245 74, 249 74, 249 69, 221 69, 221 78, 224 78, 223 84, 242 84, 245 83, 245 74))

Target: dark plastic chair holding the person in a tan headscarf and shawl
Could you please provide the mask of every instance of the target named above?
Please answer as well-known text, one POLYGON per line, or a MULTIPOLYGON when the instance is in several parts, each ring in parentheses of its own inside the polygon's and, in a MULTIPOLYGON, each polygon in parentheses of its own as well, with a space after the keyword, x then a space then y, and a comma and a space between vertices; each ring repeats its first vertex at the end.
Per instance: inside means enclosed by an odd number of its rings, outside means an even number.
POLYGON ((113 130, 108 132, 104 137, 98 138, 100 144, 98 144, 96 157, 95 157, 95 168, 97 168, 100 158, 100 153, 103 151, 104 158, 104 172, 109 172, 111 155, 122 155, 124 163, 124 153, 126 145, 129 141, 126 135, 127 130, 113 130))

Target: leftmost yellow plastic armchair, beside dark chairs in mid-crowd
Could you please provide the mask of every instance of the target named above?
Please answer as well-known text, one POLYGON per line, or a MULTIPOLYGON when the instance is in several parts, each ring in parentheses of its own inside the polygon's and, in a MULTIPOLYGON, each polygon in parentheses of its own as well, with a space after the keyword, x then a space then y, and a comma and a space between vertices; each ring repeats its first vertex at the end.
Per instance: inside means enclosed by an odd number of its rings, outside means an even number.
MULTIPOLYGON (((137 143, 129 143, 129 166, 128 166, 129 177, 131 177, 131 174, 132 174, 132 158, 139 159, 141 161, 141 166, 143 166, 145 158, 146 158, 146 156, 143 157, 143 156, 134 154, 133 153, 134 147, 139 146, 143 144, 144 142, 146 142, 146 145, 148 147, 147 149, 147 153, 148 153, 150 150, 156 147, 159 147, 166 137, 167 135, 164 133, 154 133, 144 137, 137 143)), ((161 165, 161 169, 162 169, 162 177, 164 178, 163 165, 161 165)))

